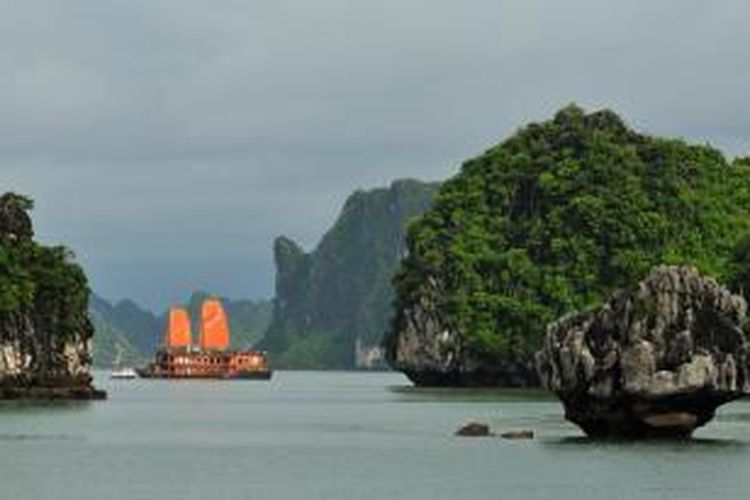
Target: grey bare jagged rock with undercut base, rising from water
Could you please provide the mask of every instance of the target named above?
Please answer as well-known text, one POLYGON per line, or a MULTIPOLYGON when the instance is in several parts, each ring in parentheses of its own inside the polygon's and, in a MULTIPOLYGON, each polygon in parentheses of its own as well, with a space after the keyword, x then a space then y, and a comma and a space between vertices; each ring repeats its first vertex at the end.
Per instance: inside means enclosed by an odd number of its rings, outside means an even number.
POLYGON ((539 374, 590 436, 689 436, 750 389, 745 314, 742 297, 695 269, 658 267, 551 324, 539 374))

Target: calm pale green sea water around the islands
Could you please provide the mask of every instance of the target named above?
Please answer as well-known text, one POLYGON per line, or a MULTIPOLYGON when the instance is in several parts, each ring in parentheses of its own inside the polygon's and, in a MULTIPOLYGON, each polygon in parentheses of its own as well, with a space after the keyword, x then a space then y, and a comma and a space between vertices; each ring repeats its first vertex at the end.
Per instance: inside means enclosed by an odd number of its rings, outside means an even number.
POLYGON ((688 442, 597 443, 540 392, 394 373, 109 381, 105 402, 0 404, 0 499, 747 498, 750 404, 688 442), (468 420, 532 441, 459 438, 468 420))

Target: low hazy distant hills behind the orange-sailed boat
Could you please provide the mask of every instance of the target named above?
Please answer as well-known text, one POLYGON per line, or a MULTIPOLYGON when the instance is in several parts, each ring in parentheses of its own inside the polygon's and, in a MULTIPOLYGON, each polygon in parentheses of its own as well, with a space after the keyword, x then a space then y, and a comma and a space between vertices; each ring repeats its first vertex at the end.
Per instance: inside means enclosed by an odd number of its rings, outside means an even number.
MULTIPOLYGON (((215 295, 195 292, 185 304, 193 321, 193 339, 196 342, 200 331, 200 305, 208 297, 215 295)), ((232 347, 252 347, 268 328, 271 303, 264 300, 221 300, 229 316, 232 347)), ((118 356, 123 364, 145 362, 162 344, 167 324, 167 311, 156 315, 132 300, 112 304, 95 294, 89 301, 89 317, 96 330, 94 364, 100 367, 112 366, 118 356)))

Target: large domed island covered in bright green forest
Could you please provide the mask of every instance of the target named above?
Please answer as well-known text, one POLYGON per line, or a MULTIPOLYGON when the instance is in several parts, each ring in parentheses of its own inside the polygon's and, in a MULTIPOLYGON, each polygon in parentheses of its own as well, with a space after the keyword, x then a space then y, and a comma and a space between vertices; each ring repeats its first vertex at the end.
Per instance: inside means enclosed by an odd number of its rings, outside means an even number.
POLYGON ((388 358, 418 384, 533 384, 545 325, 652 266, 746 282, 749 229, 746 160, 569 106, 464 163, 410 226, 388 358))

